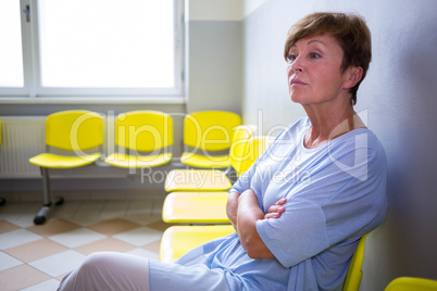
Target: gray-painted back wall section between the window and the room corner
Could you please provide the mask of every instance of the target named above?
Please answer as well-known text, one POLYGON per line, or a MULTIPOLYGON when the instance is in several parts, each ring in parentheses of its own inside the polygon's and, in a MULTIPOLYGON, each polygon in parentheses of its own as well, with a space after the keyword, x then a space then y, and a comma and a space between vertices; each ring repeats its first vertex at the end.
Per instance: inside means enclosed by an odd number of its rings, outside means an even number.
POLYGON ((190 21, 188 112, 241 113, 241 22, 190 21))

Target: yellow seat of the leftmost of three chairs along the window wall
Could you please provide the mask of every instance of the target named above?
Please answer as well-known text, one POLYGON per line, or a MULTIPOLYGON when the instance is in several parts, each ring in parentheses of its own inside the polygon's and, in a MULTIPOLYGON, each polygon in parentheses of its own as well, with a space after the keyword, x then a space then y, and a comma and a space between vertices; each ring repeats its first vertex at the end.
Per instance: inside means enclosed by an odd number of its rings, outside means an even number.
POLYGON ((41 153, 29 159, 29 163, 48 168, 72 168, 92 164, 100 157, 100 153, 92 153, 80 156, 59 155, 52 153, 41 153))

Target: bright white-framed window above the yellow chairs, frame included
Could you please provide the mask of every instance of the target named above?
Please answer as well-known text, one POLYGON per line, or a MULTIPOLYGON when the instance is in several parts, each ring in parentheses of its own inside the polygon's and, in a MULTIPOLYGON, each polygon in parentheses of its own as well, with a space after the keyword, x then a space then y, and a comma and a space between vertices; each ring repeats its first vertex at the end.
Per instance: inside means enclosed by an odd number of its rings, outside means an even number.
POLYGON ((2 0, 0 96, 180 97, 183 1, 2 0), (5 64, 5 65, 3 65, 5 64))

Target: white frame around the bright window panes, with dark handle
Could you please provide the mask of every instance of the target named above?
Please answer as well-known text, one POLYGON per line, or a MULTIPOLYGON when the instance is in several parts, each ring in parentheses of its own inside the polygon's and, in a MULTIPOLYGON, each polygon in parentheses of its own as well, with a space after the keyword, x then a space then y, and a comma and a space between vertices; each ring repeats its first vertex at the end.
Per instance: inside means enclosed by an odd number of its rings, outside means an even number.
POLYGON ((21 0, 21 31, 23 47, 24 87, 0 87, 0 102, 37 100, 62 102, 108 102, 108 101, 153 101, 164 103, 184 102, 185 99, 185 18, 184 0, 174 3, 174 87, 172 88, 51 88, 41 86, 39 37, 38 37, 38 0, 21 0), (24 10, 30 8, 30 22, 26 21, 24 10))

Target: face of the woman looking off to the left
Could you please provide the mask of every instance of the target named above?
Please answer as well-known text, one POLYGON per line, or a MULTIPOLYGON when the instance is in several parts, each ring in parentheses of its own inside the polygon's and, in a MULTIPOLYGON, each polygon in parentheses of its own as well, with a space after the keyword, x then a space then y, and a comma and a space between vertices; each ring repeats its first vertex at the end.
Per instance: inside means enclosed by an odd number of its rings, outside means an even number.
POLYGON ((330 36, 298 40, 288 52, 290 99, 302 105, 337 100, 347 80, 340 71, 342 56, 341 47, 330 36))

